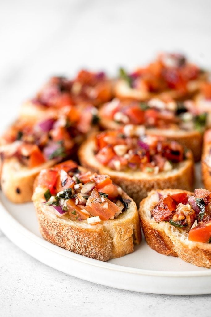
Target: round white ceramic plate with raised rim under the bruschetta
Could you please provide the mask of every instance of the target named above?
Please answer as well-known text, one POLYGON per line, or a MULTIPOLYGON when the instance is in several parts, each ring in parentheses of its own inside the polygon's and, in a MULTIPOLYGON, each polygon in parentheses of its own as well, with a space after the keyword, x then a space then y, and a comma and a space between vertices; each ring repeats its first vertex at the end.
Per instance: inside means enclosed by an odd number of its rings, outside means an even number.
MULTIPOLYGON (((201 179, 196 168, 196 180, 201 179)), ((196 187, 202 186, 198 181, 196 187)), ((163 256, 145 241, 127 256, 101 262, 45 241, 39 232, 32 203, 12 204, 0 194, 1 230, 39 261, 69 275, 94 283, 157 294, 210 294, 211 270, 163 256)))

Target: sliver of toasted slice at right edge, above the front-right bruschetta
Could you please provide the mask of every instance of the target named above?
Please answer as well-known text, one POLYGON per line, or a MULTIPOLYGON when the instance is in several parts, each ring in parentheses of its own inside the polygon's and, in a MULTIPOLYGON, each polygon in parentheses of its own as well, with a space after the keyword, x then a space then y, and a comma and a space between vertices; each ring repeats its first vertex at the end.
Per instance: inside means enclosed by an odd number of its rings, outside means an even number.
POLYGON ((211 129, 204 133, 202 151, 202 180, 204 187, 211 191, 211 129))

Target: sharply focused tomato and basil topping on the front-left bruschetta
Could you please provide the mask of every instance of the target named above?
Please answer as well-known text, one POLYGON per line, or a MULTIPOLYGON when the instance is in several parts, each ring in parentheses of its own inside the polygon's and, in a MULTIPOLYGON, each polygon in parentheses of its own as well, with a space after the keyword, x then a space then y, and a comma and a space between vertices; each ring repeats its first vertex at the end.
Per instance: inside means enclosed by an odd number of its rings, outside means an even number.
POLYGON ((42 170, 37 186, 46 189, 44 204, 52 206, 59 217, 68 215, 74 221, 98 217, 96 224, 114 219, 126 209, 121 188, 108 175, 84 172, 71 160, 42 170))

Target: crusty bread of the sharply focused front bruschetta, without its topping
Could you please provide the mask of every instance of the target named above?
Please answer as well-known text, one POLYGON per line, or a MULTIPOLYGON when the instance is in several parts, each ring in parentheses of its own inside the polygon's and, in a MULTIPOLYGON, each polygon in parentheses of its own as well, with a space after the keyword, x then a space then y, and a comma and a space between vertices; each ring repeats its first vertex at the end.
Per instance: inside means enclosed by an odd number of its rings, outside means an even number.
MULTIPOLYGON (((79 170, 84 170, 80 166, 79 170)), ((40 232, 49 242, 66 250, 107 261, 133 252, 134 244, 141 241, 139 215, 134 201, 128 199, 128 207, 116 219, 90 225, 85 221, 72 221, 68 217, 57 217, 52 207, 44 205, 43 195, 47 188, 34 183, 32 200, 38 217, 40 232)))

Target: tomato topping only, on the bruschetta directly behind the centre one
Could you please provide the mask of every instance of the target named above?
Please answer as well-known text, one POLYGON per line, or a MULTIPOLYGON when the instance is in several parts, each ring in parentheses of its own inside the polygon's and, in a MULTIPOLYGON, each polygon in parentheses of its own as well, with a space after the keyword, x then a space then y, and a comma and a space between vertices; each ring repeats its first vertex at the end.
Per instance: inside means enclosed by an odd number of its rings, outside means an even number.
POLYGON ((119 100, 117 98, 104 104, 100 116, 104 120, 115 121, 119 126, 126 124, 144 125, 146 128, 183 129, 185 131, 204 128, 202 120, 188 107, 186 102, 176 102, 171 98, 152 98, 146 102, 119 100))

